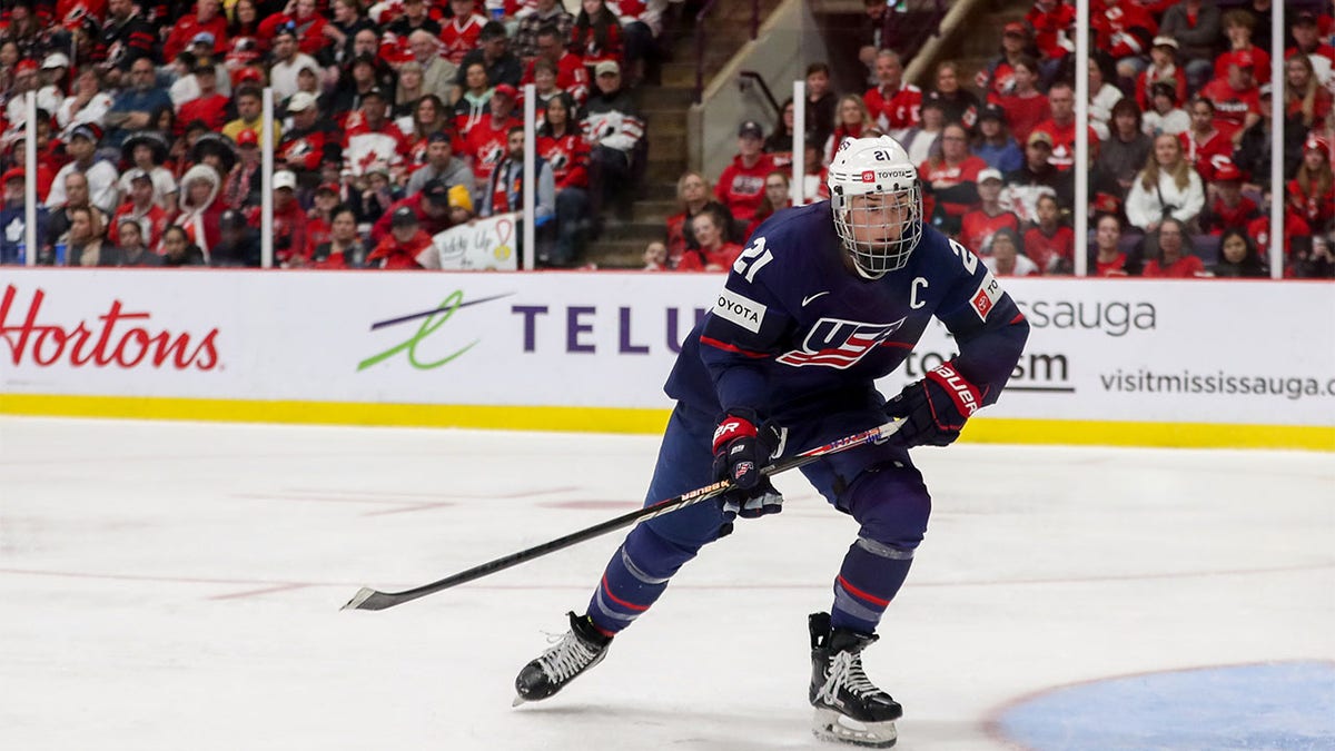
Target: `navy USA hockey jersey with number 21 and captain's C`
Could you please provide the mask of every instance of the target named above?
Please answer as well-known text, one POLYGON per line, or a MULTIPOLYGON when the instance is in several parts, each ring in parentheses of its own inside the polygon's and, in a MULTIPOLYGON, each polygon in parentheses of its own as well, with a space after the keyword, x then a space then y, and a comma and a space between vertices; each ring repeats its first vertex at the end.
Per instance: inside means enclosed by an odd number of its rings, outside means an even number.
POLYGON ((686 337, 668 396, 780 421, 856 402, 904 362, 934 315, 959 345, 956 369, 984 405, 995 402, 1029 325, 987 267, 924 227, 908 266, 865 279, 849 267, 830 211, 829 202, 790 208, 756 230, 686 337))

